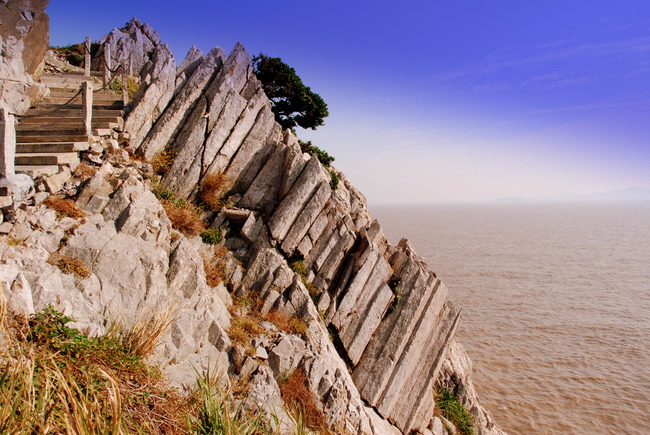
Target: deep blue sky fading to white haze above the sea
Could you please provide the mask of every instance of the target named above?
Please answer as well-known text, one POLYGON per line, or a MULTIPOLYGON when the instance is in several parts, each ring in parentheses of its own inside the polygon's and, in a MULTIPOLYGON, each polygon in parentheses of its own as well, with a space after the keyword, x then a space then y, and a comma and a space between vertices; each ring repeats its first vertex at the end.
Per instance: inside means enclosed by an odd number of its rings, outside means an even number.
POLYGON ((300 131, 371 204, 650 188, 647 0, 51 0, 52 45, 137 17, 180 64, 241 42, 328 103, 300 131))

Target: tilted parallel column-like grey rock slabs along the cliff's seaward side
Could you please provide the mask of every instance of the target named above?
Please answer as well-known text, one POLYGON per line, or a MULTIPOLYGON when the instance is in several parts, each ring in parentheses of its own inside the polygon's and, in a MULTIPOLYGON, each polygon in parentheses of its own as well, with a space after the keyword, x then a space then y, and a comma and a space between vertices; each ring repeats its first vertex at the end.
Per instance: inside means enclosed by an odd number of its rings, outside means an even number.
POLYGON ((234 230, 226 245, 247 270, 238 291, 258 295, 263 312, 302 318, 310 331, 329 327, 339 343, 339 358, 317 369, 329 348, 320 338, 309 357, 304 349, 314 348, 314 337, 300 351, 292 340, 274 342, 267 350, 276 377, 305 370, 331 424, 345 421, 363 433, 379 417, 403 433, 425 431, 460 309, 406 240, 389 246, 342 174, 333 190, 320 162, 302 153, 291 132, 281 133, 243 47, 225 60, 220 55, 213 50, 186 62, 198 66, 137 153, 175 155, 162 182, 180 198, 195 198, 207 176, 225 174, 241 212, 220 213, 211 225, 234 230), (287 266, 296 259, 309 291, 287 266))

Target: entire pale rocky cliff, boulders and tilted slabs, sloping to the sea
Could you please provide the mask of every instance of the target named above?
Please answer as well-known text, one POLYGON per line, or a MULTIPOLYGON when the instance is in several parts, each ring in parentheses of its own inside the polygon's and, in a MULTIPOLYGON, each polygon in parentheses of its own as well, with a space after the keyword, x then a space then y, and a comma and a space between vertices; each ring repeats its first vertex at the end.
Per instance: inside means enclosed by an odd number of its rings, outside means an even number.
POLYGON ((216 367, 287 430, 278 381, 300 371, 337 433, 446 433, 434 412, 439 387, 461 397, 478 433, 502 433, 454 340, 461 310, 445 284, 407 240, 388 243, 342 173, 333 189, 330 172, 281 130, 241 45, 227 56, 192 49, 177 68, 137 20, 102 43, 140 77, 124 144, 139 158, 106 152, 65 184, 83 217, 57 217, 37 194, 3 224, 0 279, 14 310, 51 304, 101 334, 171 307, 157 355, 170 379, 187 385, 216 367), (156 184, 146 161, 161 156, 156 184), (175 230, 151 191, 196 203, 214 177, 226 180, 223 207, 203 217, 224 235, 219 255, 175 230), (66 273, 58 258, 80 259, 88 274, 66 273), (215 265, 221 283, 206 280, 215 265), (236 338, 253 314, 260 328, 236 338), (280 328, 274 316, 305 328, 280 328))

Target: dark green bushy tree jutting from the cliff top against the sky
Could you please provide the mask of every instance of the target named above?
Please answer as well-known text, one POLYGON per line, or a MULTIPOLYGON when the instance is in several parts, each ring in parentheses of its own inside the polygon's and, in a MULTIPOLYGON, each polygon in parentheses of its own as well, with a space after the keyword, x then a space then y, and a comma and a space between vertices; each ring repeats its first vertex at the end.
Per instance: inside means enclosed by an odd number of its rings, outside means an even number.
POLYGON ((253 58, 253 67, 282 128, 300 126, 315 130, 324 124, 323 118, 329 115, 327 104, 302 83, 295 69, 279 57, 261 53, 253 58))

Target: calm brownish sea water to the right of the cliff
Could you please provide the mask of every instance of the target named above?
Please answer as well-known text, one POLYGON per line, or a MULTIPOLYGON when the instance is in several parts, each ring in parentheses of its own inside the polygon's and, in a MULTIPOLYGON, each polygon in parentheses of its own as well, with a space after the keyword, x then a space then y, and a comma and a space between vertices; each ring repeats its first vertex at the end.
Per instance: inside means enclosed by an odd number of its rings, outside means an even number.
POLYGON ((511 434, 650 434, 650 203, 372 207, 464 308, 511 434))

